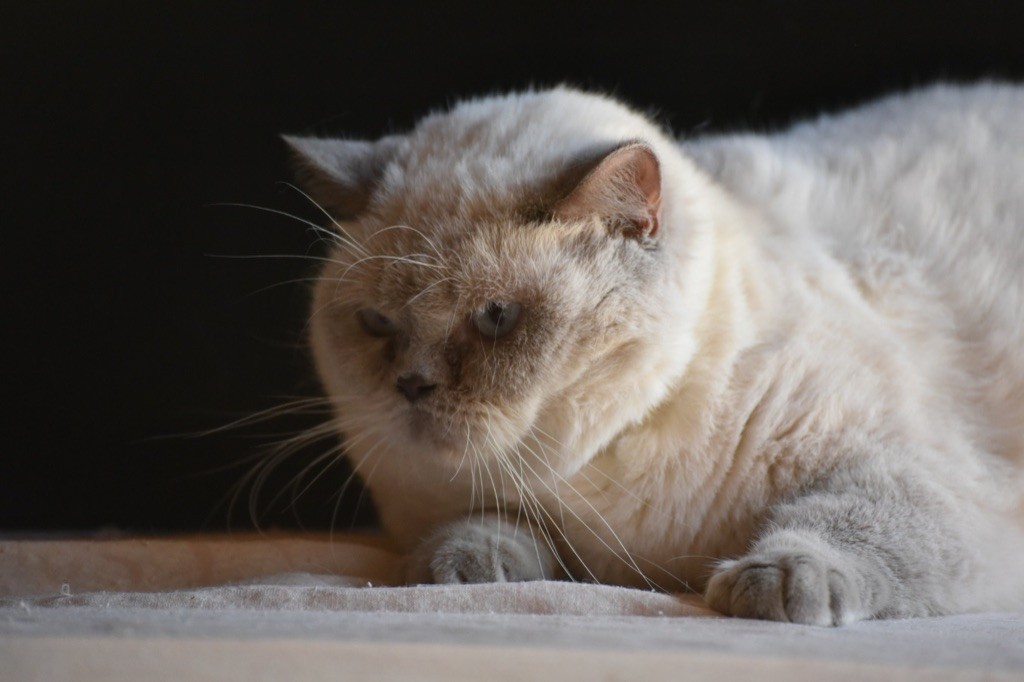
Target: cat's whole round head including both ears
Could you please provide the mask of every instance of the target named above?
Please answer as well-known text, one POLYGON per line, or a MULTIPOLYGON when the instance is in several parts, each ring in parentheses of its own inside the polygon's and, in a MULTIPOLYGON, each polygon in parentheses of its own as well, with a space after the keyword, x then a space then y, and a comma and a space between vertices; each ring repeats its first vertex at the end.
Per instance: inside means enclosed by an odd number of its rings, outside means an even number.
POLYGON ((286 139, 333 217, 311 341, 356 461, 528 453, 564 473, 681 372, 686 247, 667 233, 692 227, 643 117, 556 89, 376 142, 286 139))

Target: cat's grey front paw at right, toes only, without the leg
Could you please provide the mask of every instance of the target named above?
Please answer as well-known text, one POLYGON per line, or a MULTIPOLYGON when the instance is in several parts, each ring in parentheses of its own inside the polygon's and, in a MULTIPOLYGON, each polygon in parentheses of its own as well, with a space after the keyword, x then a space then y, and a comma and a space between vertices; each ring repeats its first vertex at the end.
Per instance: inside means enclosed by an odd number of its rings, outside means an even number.
POLYGON ((705 598, 729 615, 838 626, 863 617, 856 583, 813 551, 766 552, 720 564, 705 598))

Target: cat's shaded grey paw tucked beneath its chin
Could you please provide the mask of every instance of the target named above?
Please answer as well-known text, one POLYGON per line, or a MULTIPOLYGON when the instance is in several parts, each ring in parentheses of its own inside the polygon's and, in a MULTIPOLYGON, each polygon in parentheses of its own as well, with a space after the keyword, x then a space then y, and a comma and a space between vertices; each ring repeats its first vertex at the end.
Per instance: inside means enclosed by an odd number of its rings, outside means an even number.
POLYGON ((544 531, 496 515, 456 521, 409 557, 408 583, 516 583, 556 578, 559 563, 544 531))

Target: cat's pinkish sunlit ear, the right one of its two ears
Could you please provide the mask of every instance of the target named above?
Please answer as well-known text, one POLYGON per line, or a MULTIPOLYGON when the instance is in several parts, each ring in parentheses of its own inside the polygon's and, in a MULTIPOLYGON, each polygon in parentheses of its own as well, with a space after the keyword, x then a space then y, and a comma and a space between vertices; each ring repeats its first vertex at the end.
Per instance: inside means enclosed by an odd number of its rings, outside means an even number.
POLYGON ((657 233, 662 170, 649 146, 631 142, 610 152, 555 204, 556 218, 572 220, 592 215, 610 220, 636 239, 648 240, 657 233))

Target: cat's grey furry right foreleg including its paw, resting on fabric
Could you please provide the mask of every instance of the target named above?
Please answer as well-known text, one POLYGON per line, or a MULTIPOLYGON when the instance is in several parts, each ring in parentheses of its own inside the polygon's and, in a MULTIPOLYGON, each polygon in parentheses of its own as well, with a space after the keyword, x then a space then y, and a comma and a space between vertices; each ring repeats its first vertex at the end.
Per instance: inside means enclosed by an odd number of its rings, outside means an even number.
POLYGON ((720 564, 709 605, 742 617, 843 625, 934 615, 968 590, 980 510, 926 476, 835 476, 776 505, 749 554, 720 564))

